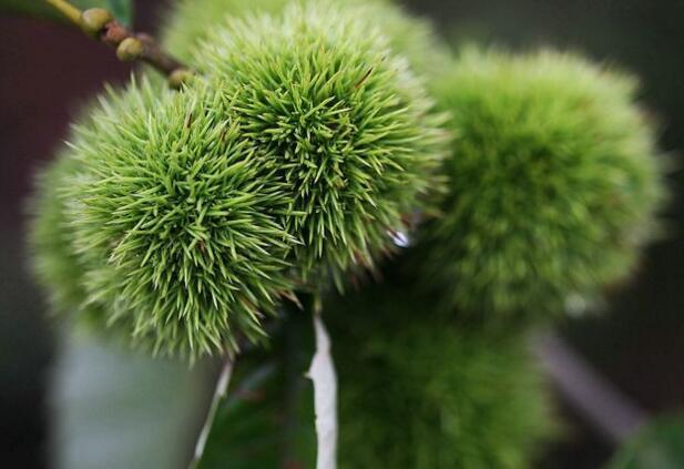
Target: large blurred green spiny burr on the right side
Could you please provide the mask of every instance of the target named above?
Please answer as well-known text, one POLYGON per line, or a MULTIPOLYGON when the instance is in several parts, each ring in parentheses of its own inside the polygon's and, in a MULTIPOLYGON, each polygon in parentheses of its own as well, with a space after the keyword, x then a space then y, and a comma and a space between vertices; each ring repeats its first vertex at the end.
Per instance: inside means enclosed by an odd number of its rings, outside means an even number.
POLYGON ((448 308, 544 316, 633 269, 664 190, 632 77, 468 50, 433 89, 456 139, 417 258, 448 308))

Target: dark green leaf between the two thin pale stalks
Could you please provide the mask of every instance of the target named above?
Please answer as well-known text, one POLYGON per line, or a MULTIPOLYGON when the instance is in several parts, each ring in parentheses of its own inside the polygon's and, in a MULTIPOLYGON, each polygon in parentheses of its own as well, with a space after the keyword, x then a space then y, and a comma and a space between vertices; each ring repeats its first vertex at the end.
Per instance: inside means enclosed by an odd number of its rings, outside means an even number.
POLYGON ((304 376, 313 354, 309 322, 296 312, 269 350, 238 356, 200 469, 315 467, 314 396, 304 376))

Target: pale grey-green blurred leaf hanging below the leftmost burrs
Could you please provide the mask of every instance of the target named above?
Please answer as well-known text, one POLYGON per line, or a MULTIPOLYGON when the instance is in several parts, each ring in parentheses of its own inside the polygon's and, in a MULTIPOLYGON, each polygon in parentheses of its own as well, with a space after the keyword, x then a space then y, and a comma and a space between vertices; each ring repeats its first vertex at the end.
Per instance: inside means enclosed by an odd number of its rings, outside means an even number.
POLYGON ((206 367, 84 337, 60 351, 51 386, 52 467, 185 469, 211 394, 206 367))

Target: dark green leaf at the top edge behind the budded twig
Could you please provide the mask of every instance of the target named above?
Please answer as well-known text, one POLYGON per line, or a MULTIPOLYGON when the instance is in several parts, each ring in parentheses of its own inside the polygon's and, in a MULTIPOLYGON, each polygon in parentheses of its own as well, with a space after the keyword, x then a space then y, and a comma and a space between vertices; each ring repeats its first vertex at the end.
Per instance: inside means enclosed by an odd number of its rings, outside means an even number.
MULTIPOLYGON (((125 26, 131 26, 133 21, 132 0, 70 0, 74 7, 82 10, 89 8, 105 8, 114 18, 125 26)), ((54 7, 44 0, 0 0, 0 12, 21 14, 27 17, 42 18, 59 22, 67 21, 54 7)))

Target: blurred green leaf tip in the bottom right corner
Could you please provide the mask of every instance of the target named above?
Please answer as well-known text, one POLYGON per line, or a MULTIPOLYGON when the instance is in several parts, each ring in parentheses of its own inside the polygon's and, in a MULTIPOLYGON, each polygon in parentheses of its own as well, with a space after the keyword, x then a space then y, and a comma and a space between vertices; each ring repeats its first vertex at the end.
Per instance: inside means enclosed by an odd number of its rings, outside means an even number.
POLYGON ((684 468, 684 417, 656 419, 629 439, 608 465, 608 469, 650 468, 684 468))

